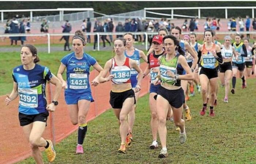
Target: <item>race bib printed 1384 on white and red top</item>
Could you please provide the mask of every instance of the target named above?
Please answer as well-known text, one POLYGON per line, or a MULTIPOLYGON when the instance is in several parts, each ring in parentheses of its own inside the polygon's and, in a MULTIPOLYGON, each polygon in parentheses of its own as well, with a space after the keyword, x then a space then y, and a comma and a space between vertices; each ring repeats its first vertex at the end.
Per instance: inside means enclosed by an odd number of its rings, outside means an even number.
POLYGON ((113 82, 124 83, 131 78, 131 69, 127 66, 116 66, 112 69, 111 74, 114 75, 113 82))

